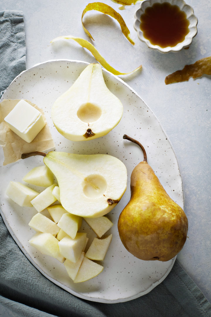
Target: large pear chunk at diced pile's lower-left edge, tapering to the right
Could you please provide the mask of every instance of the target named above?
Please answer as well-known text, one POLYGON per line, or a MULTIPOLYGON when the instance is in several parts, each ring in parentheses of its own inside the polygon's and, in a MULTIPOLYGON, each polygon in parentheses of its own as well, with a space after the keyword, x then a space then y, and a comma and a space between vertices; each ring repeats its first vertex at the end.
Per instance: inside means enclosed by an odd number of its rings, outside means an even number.
POLYGON ((39 250, 42 254, 47 256, 52 256, 59 262, 63 263, 65 261, 64 256, 61 255, 59 251, 58 240, 50 233, 36 233, 30 240, 29 243, 39 250))

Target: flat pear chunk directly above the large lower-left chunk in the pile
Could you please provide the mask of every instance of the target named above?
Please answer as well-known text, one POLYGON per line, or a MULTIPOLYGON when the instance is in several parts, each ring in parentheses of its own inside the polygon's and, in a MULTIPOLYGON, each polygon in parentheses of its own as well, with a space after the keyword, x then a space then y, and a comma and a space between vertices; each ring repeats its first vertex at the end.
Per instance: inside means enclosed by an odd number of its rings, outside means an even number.
POLYGON ((57 224, 40 212, 32 217, 29 226, 35 231, 51 233, 53 236, 59 232, 57 224))

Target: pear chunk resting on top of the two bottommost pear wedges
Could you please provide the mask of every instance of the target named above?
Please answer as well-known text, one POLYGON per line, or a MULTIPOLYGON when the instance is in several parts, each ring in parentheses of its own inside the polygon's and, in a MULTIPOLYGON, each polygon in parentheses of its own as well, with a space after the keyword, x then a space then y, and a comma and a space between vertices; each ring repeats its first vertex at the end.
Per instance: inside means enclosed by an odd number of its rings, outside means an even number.
MULTIPOLYGON (((58 240, 57 240, 58 241, 58 240)), ((70 236, 65 236, 59 241, 60 253, 71 262, 78 261, 82 250, 84 249, 84 244, 86 243, 86 233, 78 232, 75 239, 70 236)))

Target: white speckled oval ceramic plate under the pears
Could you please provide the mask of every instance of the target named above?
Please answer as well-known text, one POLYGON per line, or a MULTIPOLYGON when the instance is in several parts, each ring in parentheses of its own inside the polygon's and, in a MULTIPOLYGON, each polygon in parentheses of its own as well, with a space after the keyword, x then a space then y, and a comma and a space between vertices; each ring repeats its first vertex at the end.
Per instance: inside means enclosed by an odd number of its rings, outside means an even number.
MULTIPOLYGON (((35 232, 30 229, 28 223, 36 211, 34 208, 19 207, 9 200, 5 195, 5 187, 10 180, 22 181, 23 176, 31 168, 42 165, 41 157, 30 157, 1 166, 1 214, 9 232, 29 261, 53 283, 86 300, 104 303, 124 302, 147 294, 161 283, 171 271, 175 258, 168 262, 142 261, 127 252, 120 241, 117 230, 118 216, 130 199, 131 172, 135 165, 143 160, 140 148, 123 140, 123 134, 138 139, 145 146, 148 163, 168 194, 183 208, 182 179, 171 143, 156 116, 133 89, 107 71, 103 70, 105 82, 124 106, 124 114, 118 126, 106 136, 91 141, 71 142, 58 133, 51 120, 53 102, 72 85, 86 66, 85 62, 71 60, 54 60, 35 65, 15 78, 2 100, 27 99, 42 108, 56 150, 81 154, 108 153, 126 165, 127 191, 108 215, 114 223, 108 232, 113 234, 113 239, 106 258, 102 261, 103 272, 89 281, 74 284, 62 263, 41 255, 29 245, 28 239, 35 232)), ((3 165, 2 149, 0 154, 0 164, 3 165)), ((87 231, 91 241, 94 236, 92 230, 85 223, 81 230, 87 231)))

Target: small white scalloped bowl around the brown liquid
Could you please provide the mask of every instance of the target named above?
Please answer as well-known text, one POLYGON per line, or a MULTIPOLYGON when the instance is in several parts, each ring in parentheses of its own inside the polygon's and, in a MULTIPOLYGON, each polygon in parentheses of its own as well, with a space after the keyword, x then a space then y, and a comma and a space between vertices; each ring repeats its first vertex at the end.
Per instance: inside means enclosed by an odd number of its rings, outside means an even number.
POLYGON ((181 51, 182 49, 189 47, 189 45, 192 43, 192 40, 194 36, 197 34, 197 23, 198 19, 194 14, 193 8, 186 4, 183 0, 144 0, 143 2, 140 3, 140 7, 138 10, 135 12, 135 22, 134 22, 134 29, 137 31, 138 38, 142 41, 145 42, 146 45, 150 49, 155 49, 158 50, 161 53, 169 53, 169 52, 178 52, 181 51), (176 46, 171 47, 160 47, 158 45, 153 45, 148 39, 146 39, 143 36, 143 32, 140 29, 140 16, 145 12, 147 7, 151 7, 154 3, 164 3, 168 2, 172 5, 177 5, 180 10, 184 11, 186 13, 187 19, 189 20, 189 33, 185 36, 185 39, 183 42, 178 43, 176 46))

